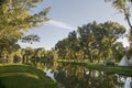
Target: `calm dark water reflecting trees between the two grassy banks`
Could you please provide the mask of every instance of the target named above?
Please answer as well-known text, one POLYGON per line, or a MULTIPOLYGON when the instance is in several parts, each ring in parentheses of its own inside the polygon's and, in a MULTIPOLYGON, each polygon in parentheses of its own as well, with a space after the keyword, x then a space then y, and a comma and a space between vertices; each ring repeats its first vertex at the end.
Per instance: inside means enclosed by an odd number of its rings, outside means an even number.
POLYGON ((132 88, 132 77, 61 63, 44 64, 44 72, 59 88, 132 88))

